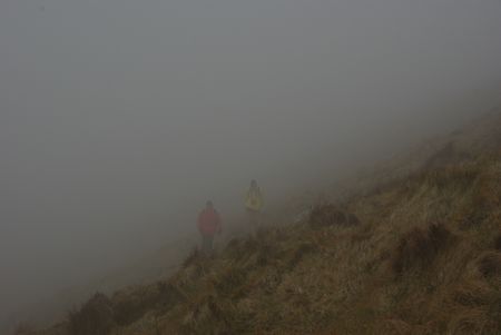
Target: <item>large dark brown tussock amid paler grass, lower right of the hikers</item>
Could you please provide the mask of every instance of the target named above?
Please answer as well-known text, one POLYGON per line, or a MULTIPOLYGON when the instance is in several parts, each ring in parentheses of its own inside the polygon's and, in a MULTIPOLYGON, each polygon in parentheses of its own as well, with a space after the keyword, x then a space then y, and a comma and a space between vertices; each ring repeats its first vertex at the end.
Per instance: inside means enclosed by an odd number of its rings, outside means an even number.
POLYGON ((431 224, 424 229, 411 229, 401 237, 396 247, 392 260, 394 273, 401 275, 410 268, 430 265, 451 239, 452 233, 442 224, 431 224))

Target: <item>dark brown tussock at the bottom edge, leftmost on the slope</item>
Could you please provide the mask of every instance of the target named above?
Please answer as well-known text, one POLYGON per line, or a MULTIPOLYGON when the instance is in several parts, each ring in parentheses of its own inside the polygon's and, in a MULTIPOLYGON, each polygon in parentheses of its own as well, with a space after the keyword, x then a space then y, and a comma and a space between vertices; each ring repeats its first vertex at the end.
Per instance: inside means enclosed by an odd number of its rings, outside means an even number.
POLYGON ((106 335, 115 325, 111 300, 97 293, 78 311, 68 314, 70 333, 73 335, 106 335))

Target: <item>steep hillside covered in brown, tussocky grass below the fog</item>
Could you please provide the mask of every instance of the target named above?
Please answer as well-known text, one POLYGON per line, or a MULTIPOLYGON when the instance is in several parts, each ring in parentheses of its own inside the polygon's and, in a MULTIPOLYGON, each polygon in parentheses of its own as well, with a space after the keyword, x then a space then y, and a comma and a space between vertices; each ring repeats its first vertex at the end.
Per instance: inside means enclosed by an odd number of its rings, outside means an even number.
POLYGON ((35 334, 500 334, 499 125, 35 334))

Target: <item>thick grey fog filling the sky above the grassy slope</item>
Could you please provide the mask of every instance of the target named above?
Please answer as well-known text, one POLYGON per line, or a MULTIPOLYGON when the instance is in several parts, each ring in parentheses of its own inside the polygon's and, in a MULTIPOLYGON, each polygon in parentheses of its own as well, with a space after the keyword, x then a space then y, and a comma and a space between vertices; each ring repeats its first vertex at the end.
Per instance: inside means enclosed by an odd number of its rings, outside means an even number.
MULTIPOLYGON (((499 0, 0 1, 0 321, 501 88, 499 0)), ((232 224, 232 223, 227 223, 232 224)))

